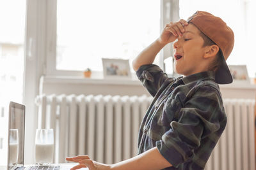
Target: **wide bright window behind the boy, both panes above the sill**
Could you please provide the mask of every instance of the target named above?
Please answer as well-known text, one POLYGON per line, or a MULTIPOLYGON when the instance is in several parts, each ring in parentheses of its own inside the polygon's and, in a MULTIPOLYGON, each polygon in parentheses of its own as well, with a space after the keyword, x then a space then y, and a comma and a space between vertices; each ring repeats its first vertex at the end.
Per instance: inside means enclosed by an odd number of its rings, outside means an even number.
MULTIPOLYGON (((61 0, 56 1, 55 5, 51 3, 51 19, 47 20, 51 22, 47 24, 47 34, 51 39, 47 42, 47 74, 74 75, 72 72, 76 72, 81 75, 86 67, 102 71, 101 58, 129 59, 131 64, 132 59, 159 36, 160 25, 173 19, 172 8, 176 1, 61 0), (163 2, 165 4, 161 6, 163 2), (166 15, 163 15, 163 11, 166 15), (170 19, 166 20, 168 17, 170 19)), ((234 50, 227 63, 246 65, 249 76, 253 77, 256 67, 252 50, 256 37, 248 33, 253 32, 256 26, 253 6, 255 1, 252 0, 217 0, 214 3, 180 0, 180 8, 175 9, 179 9, 178 16, 184 19, 196 10, 209 11, 223 18, 235 34, 234 50)), ((173 20, 177 20, 177 17, 173 20)), ((164 54, 164 59, 172 55, 172 52, 168 53, 164 54)), ((160 59, 156 60, 156 64, 161 65, 161 57, 156 59, 160 59)), ((172 73, 172 59, 164 62, 167 73, 172 73)))

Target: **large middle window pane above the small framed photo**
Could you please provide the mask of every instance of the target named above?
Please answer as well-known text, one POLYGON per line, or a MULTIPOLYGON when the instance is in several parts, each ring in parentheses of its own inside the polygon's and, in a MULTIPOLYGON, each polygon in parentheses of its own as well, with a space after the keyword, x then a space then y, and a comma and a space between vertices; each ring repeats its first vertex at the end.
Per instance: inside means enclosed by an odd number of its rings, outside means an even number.
POLYGON ((56 69, 102 71, 101 58, 131 64, 159 31, 160 1, 58 1, 56 69))

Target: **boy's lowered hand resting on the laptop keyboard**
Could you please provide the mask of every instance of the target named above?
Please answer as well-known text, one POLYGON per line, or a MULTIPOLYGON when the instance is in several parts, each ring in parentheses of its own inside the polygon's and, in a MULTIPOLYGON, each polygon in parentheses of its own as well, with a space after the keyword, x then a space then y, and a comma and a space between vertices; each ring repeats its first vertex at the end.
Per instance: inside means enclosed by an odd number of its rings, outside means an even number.
POLYGON ((90 170, 109 170, 110 166, 96 162, 88 155, 79 155, 76 157, 67 157, 66 160, 79 163, 77 166, 72 167, 70 170, 76 170, 83 167, 88 167, 90 170))

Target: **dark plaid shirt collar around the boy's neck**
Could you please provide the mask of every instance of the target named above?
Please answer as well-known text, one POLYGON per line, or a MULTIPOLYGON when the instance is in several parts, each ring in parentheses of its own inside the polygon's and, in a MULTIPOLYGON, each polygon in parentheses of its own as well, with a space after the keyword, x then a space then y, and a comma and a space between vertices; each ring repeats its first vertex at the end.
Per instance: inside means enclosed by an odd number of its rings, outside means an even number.
POLYGON ((181 78, 181 80, 184 82, 184 84, 191 83, 193 81, 198 81, 198 80, 213 80, 215 81, 215 73, 214 71, 204 71, 201 73, 195 73, 191 74, 189 76, 181 78))

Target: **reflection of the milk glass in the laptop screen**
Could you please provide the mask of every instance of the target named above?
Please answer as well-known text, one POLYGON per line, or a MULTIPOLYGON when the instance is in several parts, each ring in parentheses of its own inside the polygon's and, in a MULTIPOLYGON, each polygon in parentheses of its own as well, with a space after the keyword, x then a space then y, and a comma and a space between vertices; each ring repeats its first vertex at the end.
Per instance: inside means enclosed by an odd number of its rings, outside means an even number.
POLYGON ((18 129, 10 129, 9 138, 9 166, 15 166, 19 155, 19 132, 18 129))

